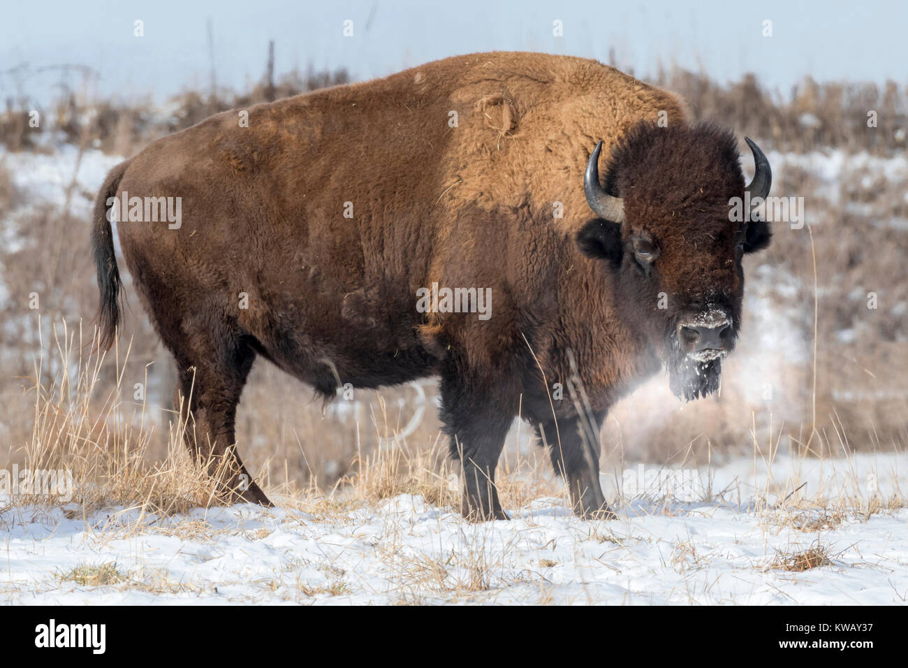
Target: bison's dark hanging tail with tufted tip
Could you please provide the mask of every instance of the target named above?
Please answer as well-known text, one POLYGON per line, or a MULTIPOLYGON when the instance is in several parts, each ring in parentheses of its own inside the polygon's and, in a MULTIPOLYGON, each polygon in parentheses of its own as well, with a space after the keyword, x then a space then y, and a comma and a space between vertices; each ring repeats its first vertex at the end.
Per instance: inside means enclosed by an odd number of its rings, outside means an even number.
POLYGON ((116 265, 114 234, 107 217, 107 203, 110 197, 116 197, 120 179, 123 178, 127 165, 128 163, 121 163, 107 174, 107 179, 94 201, 92 248, 94 264, 98 271, 98 290, 101 292, 95 320, 98 324, 97 345, 101 351, 110 350, 116 340, 117 326, 120 324, 120 270, 116 265))

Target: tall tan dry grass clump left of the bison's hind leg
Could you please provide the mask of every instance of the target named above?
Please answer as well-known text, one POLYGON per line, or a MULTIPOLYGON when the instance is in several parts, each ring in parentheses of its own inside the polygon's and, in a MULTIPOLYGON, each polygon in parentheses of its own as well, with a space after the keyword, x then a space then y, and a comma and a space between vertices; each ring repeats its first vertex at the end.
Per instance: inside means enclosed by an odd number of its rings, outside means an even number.
MULTIPOLYGON (((40 332, 40 327, 39 327, 40 332)), ((156 438, 146 423, 145 401, 127 398, 123 364, 130 349, 100 354, 94 337, 82 327, 54 324, 53 340, 41 340, 31 386, 25 388, 34 413, 30 440, 12 448, 10 463, 30 471, 65 470, 74 481, 73 503, 91 511, 103 506, 141 506, 153 513, 182 513, 211 504, 214 487, 202 467, 183 447, 186 424, 175 419, 163 438, 166 456, 148 456, 156 438), (116 382, 101 383, 103 369, 113 365, 116 382)), ((25 494, 18 503, 54 503, 44 495, 25 494)))

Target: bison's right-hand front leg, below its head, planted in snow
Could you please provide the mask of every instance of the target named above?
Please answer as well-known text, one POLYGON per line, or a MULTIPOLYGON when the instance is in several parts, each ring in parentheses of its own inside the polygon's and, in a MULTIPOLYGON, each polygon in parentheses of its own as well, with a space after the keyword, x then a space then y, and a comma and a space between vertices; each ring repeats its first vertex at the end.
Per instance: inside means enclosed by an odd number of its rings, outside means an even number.
POLYGON ((539 436, 548 448, 555 473, 568 485, 574 513, 585 519, 613 520, 599 484, 599 427, 605 414, 584 419, 559 419, 538 424, 539 436))

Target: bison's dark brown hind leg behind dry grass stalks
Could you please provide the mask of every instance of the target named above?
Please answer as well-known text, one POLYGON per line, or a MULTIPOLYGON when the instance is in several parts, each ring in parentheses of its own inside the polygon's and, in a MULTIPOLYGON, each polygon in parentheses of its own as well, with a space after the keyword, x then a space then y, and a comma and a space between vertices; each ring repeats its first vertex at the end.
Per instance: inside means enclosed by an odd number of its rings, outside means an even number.
MULTIPOLYGON (((165 341, 176 358, 175 402, 185 424, 184 440, 214 478, 222 503, 271 505, 236 451, 236 406, 255 360, 252 338, 231 324, 204 319, 178 341, 165 341)), ((185 331, 185 323, 184 323, 185 331)))

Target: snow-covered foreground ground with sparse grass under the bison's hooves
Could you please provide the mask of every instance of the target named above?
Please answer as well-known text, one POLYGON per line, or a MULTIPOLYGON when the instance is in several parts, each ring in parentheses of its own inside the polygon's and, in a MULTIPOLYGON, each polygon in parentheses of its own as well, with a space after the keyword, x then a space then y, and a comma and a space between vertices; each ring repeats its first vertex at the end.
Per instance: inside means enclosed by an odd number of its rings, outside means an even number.
POLYGON ((469 524, 409 494, 350 508, 338 501, 332 512, 323 512, 331 502, 311 512, 237 505, 171 517, 9 508, 0 512, 0 602, 908 600, 908 509, 859 509, 875 494, 898 493, 908 457, 780 458, 772 470, 777 493, 762 462, 739 460, 706 476, 725 490, 710 501, 650 494, 625 503, 612 522, 582 521, 563 499, 539 498, 508 508, 509 522, 469 524), (781 504, 795 482, 807 486, 781 504), (831 503, 814 506, 811 489, 831 503), (836 508, 845 497, 851 510, 836 508), (825 565, 780 567, 811 548, 825 565), (84 573, 107 573, 108 583, 84 573))

